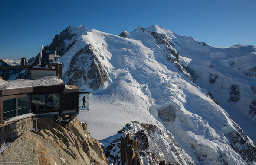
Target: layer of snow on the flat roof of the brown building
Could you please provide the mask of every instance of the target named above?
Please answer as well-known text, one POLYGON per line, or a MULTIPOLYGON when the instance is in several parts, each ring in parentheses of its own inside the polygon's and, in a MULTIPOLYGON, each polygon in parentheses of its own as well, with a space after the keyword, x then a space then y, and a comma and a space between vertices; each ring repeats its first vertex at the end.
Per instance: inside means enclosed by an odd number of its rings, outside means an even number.
POLYGON ((64 83, 61 79, 56 76, 47 76, 39 79, 17 79, 13 81, 4 81, 0 79, 0 89, 15 89, 15 88, 26 88, 35 86, 53 86, 64 83))

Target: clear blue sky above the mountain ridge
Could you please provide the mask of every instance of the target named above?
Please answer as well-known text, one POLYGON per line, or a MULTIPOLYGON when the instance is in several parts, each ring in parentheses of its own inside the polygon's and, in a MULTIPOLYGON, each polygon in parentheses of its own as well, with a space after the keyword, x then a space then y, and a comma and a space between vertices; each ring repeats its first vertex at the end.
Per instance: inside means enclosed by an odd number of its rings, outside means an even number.
POLYGON ((119 35, 159 25, 219 47, 256 45, 256 0, 1 0, 0 59, 33 57, 69 25, 119 35))

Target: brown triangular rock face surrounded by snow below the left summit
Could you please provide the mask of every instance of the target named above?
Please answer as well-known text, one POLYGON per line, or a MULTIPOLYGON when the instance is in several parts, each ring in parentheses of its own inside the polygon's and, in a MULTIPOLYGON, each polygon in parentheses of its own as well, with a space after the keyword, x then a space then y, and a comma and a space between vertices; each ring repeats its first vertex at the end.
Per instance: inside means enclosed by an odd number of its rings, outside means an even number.
POLYGON ((108 80, 108 74, 94 52, 92 45, 87 45, 74 55, 65 73, 67 84, 82 86, 88 80, 89 87, 96 90, 108 80))

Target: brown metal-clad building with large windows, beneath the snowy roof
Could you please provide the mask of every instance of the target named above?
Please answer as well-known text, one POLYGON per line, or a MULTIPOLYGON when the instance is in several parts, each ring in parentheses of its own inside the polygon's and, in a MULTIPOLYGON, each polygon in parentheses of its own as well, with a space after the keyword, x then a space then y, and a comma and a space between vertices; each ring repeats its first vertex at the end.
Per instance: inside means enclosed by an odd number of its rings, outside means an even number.
POLYGON ((49 86, 0 89, 0 124, 23 114, 36 117, 78 114, 79 88, 59 83, 49 86))

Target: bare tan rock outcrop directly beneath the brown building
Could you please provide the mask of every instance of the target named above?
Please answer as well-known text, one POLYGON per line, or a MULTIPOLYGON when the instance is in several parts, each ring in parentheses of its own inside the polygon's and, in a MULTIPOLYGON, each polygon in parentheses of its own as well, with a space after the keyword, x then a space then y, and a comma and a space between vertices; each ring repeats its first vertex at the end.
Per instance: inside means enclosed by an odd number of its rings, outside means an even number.
POLYGON ((25 130, 0 155, 1 162, 29 165, 108 165, 98 140, 86 123, 75 118, 60 125, 50 117, 38 119, 38 132, 25 130))

